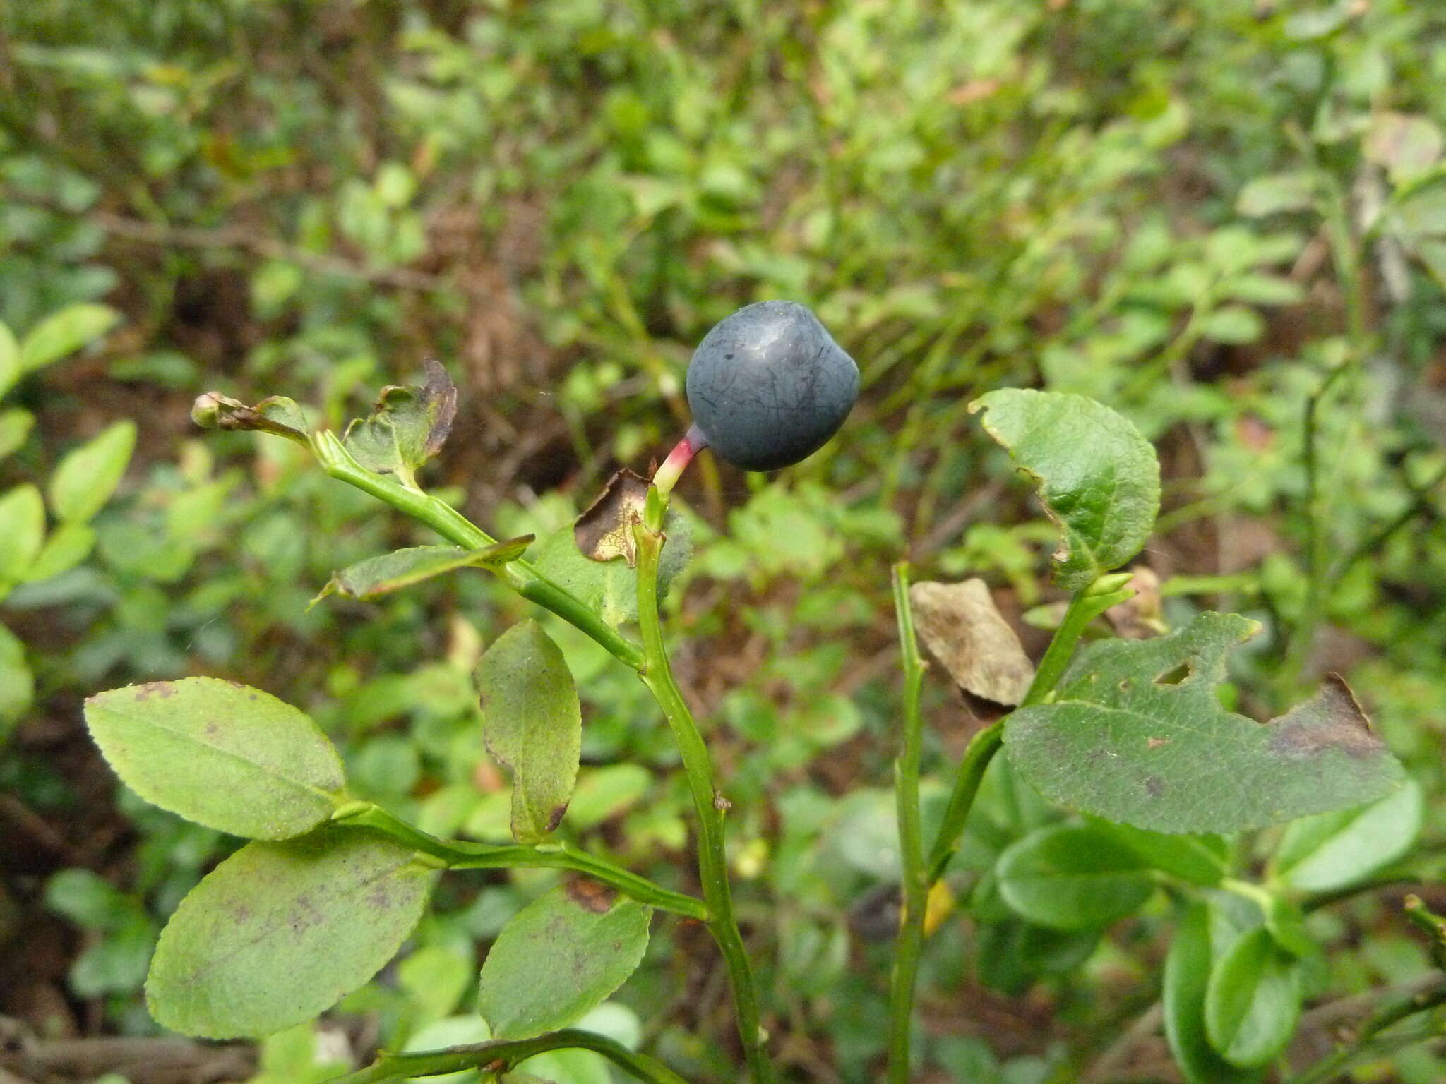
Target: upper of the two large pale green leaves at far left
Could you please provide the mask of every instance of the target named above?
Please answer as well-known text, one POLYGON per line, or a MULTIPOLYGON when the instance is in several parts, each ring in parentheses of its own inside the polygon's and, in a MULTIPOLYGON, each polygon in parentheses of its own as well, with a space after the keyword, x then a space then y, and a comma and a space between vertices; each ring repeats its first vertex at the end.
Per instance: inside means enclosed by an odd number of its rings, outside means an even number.
POLYGON ((126 786, 233 835, 299 835, 331 817, 346 783, 315 723, 228 681, 152 681, 101 692, 85 701, 85 723, 126 786))

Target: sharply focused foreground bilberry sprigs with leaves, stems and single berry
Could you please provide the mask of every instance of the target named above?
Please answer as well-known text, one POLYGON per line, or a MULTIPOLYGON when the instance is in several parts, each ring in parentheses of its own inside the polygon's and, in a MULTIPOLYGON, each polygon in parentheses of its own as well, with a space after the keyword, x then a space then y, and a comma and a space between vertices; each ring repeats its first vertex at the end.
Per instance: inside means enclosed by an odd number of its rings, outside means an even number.
MULTIPOLYGON (((213 678, 119 688, 93 697, 85 717, 124 783, 200 825, 250 840, 185 898, 162 934, 146 986, 155 1019, 208 1038, 270 1035, 314 1019, 398 952, 438 876, 548 867, 570 879, 512 916, 482 967, 477 1005, 490 1041, 383 1052, 346 1081, 480 1070, 521 1084, 538 1078, 519 1065, 565 1048, 602 1054, 641 1080, 683 1080, 652 1057, 571 1026, 642 961, 655 911, 713 937, 746 1074, 774 1080, 729 885, 727 780, 674 681, 659 619, 659 597, 687 561, 669 496, 704 447, 745 470, 803 460, 837 432, 857 387, 853 360, 808 309, 740 309, 698 345, 687 377, 696 423, 654 477, 620 471, 574 525, 544 539, 493 538, 419 486, 418 471, 441 449, 457 410, 457 392, 435 361, 424 383, 383 389, 372 415, 341 435, 312 429, 307 410, 281 396, 197 400, 202 426, 295 441, 331 477, 442 539, 337 572, 318 603, 480 568, 636 672, 681 754, 701 895, 554 838, 577 779, 581 711, 561 649, 532 620, 499 636, 476 668, 479 737, 512 778, 508 846, 437 838, 357 801, 321 728, 263 689, 213 678)), ((1264 724, 1231 711, 1229 655, 1258 630, 1245 617, 1202 613, 1150 639, 1098 635, 1099 619, 1135 595, 1131 574, 1118 569, 1151 536, 1160 506, 1154 448, 1128 421, 1079 395, 1028 389, 988 392, 969 409, 1037 490, 1060 535, 1053 577, 1070 597, 1035 666, 977 581, 911 584, 907 565, 894 569, 905 682, 888 1078, 910 1080, 914 989, 931 915, 949 906, 944 874, 1002 752, 998 770, 1070 818, 1006 847, 975 886, 976 912, 1019 916, 1048 941, 1035 951, 1079 963, 1100 931, 1164 893, 1176 925, 1161 1012, 1180 1072, 1192 1084, 1264 1080, 1325 978, 1304 908, 1398 857, 1419 827, 1420 795, 1339 676, 1327 675, 1313 697, 1264 724), (1096 636, 1080 646, 1086 632, 1096 636), (993 704, 998 717, 967 746, 931 838, 920 801, 920 639, 947 679, 993 704), (1267 874, 1244 880, 1233 837, 1285 822, 1267 874)), ((1442 944, 1440 919, 1419 903, 1410 915, 1442 944)), ((1353 1045, 1296 1080, 1329 1080, 1371 1044, 1410 1038, 1408 1020, 1446 999, 1443 989, 1384 1006, 1353 1045)))

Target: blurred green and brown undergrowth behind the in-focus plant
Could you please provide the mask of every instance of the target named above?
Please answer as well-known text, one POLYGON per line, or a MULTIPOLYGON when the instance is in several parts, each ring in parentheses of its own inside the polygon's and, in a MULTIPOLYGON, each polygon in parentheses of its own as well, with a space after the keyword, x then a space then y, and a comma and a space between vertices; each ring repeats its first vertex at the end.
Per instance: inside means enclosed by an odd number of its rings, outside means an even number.
MULTIPOLYGON (((463 405, 428 484, 500 536, 541 533, 671 447, 691 345, 762 298, 814 306, 863 397, 781 476, 703 461, 669 606, 791 1078, 878 1072, 888 565, 986 578, 1035 648, 1058 598, 1050 532, 964 409, 991 387, 1087 393, 1157 442, 1142 564, 1165 620, 1262 621, 1233 675, 1259 718, 1349 676, 1427 795, 1403 876, 1446 909, 1437 4, 16 0, 0 17, 0 1013, 38 1078, 309 1081, 379 1042, 482 1038, 476 964, 555 876, 447 879, 398 964, 259 1061, 87 1045, 155 1033, 156 929, 234 841, 117 791, 85 695, 249 682, 325 726, 360 796, 432 833, 506 833, 470 671, 525 604, 460 574, 309 607, 334 569, 431 539, 288 442, 202 438, 192 397, 289 395, 335 426, 437 356, 463 405), (72 478, 117 474, 103 509, 55 481, 81 452, 72 478)), ((584 697, 564 831, 684 883, 667 730, 636 681, 548 627, 584 697)), ((930 718, 938 798, 976 724, 938 682, 930 718)), ((1057 817, 993 779, 956 895, 1057 817)), ((1242 841, 1242 867, 1270 846, 1242 841)), ((1310 915, 1322 1000, 1430 968, 1400 895, 1310 915)), ((589 1025, 732 1080, 713 950, 658 925, 589 1025)), ((1155 996, 1168 928, 1163 899, 1102 937, 975 892, 927 957, 921 1078, 1086 1078, 1155 996)), ((1112 1080, 1173 1080, 1161 1044, 1129 1055, 1112 1080)), ((609 1078, 549 1058, 534 1068, 564 1084, 609 1078)), ((1362 1072, 1429 1084, 1446 1058, 1362 1072)))

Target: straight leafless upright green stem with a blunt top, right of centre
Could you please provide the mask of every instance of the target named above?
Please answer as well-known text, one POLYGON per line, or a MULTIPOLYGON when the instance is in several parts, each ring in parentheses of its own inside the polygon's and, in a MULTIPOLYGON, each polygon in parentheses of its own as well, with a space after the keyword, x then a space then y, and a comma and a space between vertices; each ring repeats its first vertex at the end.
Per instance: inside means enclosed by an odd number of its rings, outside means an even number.
POLYGON ((908 1084, 910 1038, 914 1022, 914 989, 924 950, 924 916, 928 911, 928 869, 924 864, 924 830, 920 824, 918 769, 924 744, 920 692, 924 662, 918 656, 914 616, 908 598, 908 565, 894 565, 894 613, 898 617, 904 656, 904 736, 894 762, 894 796, 899 822, 904 915, 894 950, 889 980, 889 1084, 908 1084))

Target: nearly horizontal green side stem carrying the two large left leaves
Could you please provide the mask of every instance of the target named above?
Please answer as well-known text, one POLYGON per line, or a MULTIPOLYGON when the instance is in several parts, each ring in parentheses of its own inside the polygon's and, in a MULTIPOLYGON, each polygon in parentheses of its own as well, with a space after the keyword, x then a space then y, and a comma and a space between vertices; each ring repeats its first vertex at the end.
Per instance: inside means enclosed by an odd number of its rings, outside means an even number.
POLYGON ((372 802, 344 805, 333 815, 333 821, 343 827, 373 828, 385 833, 422 854, 438 859, 450 870, 495 870, 519 866, 574 870, 604 885, 612 885, 625 896, 630 896, 641 903, 649 903, 677 915, 685 915, 698 922, 709 921, 707 906, 696 896, 671 892, 646 877, 641 877, 587 851, 577 850, 567 843, 516 843, 499 847, 489 843, 438 840, 435 835, 428 835, 419 828, 414 828, 372 802))

